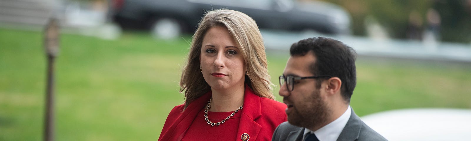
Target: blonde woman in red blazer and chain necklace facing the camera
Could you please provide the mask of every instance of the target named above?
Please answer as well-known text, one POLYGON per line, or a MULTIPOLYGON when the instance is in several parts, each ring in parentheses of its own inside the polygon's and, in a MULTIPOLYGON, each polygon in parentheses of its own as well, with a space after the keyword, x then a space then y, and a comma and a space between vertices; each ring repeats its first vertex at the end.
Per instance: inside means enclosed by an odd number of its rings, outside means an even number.
POLYGON ((286 121, 271 94, 267 58, 255 21, 244 13, 209 11, 193 35, 180 92, 159 141, 269 141, 286 121))

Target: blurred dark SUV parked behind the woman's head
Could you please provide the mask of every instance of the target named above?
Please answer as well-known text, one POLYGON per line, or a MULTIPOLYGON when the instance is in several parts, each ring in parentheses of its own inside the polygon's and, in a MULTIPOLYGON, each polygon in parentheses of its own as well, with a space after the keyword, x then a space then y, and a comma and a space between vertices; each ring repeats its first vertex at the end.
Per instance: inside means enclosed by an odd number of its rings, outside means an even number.
POLYGON ((260 29, 350 33, 349 14, 337 5, 321 1, 114 0, 112 17, 124 29, 147 29, 158 36, 173 36, 193 33, 205 11, 220 8, 251 16, 260 29))

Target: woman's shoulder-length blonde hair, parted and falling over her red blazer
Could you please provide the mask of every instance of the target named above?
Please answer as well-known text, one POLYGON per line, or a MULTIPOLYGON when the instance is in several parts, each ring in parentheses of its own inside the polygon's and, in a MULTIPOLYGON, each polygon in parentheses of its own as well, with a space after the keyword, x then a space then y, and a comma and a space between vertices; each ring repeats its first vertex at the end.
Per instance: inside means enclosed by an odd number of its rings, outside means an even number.
POLYGON ((184 109, 187 109, 190 102, 211 91, 200 73, 200 52, 206 31, 216 26, 226 27, 241 50, 248 74, 245 75, 245 84, 258 96, 274 99, 275 96, 271 93, 273 84, 267 69, 267 55, 257 24, 242 12, 218 9, 206 13, 193 35, 188 60, 180 78, 180 93, 185 91, 186 98, 184 109))

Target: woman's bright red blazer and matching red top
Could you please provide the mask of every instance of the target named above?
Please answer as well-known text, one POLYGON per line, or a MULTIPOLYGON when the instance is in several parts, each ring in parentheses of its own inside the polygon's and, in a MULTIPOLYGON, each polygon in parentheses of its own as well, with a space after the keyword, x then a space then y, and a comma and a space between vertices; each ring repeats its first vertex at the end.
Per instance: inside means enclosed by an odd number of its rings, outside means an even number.
MULTIPOLYGON (((192 141, 242 141, 243 134, 249 138, 249 141, 270 141, 276 126, 287 119, 284 103, 259 97, 245 85, 244 108, 219 127, 211 126, 206 123, 204 118, 201 118, 203 117, 201 115, 203 108, 211 96, 211 92, 208 92, 195 99, 183 112, 183 104, 175 106, 163 125, 158 141, 187 139, 192 141)), ((219 113, 221 114, 219 116, 227 117, 231 113, 222 112, 219 113)), ((219 118, 217 112, 208 112, 208 117, 213 118, 211 116, 219 118)), ((219 122, 218 119, 211 121, 219 122)))

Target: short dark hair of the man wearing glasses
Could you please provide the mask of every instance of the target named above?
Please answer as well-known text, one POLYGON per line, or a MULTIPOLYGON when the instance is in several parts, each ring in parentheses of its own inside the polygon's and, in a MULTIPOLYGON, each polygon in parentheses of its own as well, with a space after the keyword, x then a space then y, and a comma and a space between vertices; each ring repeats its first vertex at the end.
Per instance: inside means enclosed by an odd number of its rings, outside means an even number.
MULTIPOLYGON (((290 55, 304 56, 309 51, 312 51, 317 60, 309 65, 309 71, 315 76, 328 75, 340 78, 343 99, 350 102, 357 84, 355 50, 335 39, 315 37, 292 44, 290 55)), ((317 88, 320 87, 322 80, 324 79, 317 79, 317 88)))

